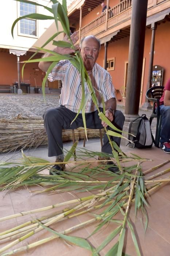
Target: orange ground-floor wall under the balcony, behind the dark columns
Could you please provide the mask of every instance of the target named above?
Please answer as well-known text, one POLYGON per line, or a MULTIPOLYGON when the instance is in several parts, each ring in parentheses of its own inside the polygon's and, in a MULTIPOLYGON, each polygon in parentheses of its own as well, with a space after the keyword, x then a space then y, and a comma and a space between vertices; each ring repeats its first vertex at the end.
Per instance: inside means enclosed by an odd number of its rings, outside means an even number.
MULTIPOLYGON (((151 29, 146 29, 144 57, 144 80, 143 80, 143 96, 142 103, 145 102, 145 92, 148 79, 148 65, 150 59, 151 29)), ((118 41, 108 44, 107 57, 115 57, 115 70, 109 71, 112 76, 115 89, 119 89, 124 84, 125 61, 128 61, 129 39, 126 37, 118 41)), ((161 23, 157 27, 155 34, 155 54, 153 65, 160 65, 164 68, 163 85, 170 78, 170 22, 161 23)), ((104 46, 101 47, 97 63, 103 67, 104 46)), ((121 99, 121 95, 117 95, 117 99, 121 99)))

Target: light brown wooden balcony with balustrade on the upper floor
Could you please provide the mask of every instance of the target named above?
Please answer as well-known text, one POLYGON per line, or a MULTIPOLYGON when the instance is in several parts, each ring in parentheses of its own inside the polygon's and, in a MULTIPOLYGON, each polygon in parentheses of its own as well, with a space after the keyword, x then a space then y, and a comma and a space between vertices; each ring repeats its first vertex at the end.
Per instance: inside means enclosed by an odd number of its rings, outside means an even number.
MULTIPOLYGON (((147 17, 170 8, 169 0, 148 0, 147 17)), ((97 35, 99 39, 120 29, 130 27, 132 0, 121 1, 116 6, 104 12, 97 19, 88 23, 78 31, 78 36, 97 35)))

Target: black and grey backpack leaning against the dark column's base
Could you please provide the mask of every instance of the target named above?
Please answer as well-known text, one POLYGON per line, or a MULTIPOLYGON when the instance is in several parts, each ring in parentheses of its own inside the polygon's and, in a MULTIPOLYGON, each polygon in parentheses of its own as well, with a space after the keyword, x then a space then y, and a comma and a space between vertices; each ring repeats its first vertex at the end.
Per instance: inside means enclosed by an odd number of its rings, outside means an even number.
POLYGON ((128 133, 129 133, 128 140, 131 140, 134 143, 135 147, 137 148, 152 147, 152 143, 154 142, 154 137, 152 135, 150 122, 146 117, 146 114, 142 114, 142 116, 131 121, 129 125, 128 133))

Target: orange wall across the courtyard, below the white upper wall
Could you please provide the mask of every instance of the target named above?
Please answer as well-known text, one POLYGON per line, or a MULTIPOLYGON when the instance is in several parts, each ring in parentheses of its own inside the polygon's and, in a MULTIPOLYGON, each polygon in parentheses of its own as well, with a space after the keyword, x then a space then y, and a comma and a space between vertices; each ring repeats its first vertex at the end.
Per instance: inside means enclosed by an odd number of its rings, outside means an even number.
MULTIPOLYGON (((30 56, 29 56, 30 57, 30 56)), ((20 61, 28 60, 28 56, 20 56, 20 61)), ((20 71, 22 70, 23 63, 20 63, 20 71)), ((31 73, 34 73, 34 69, 38 68, 38 63, 29 63, 26 64, 24 69, 24 80, 30 80, 31 86, 35 87, 35 81, 34 76, 31 75, 31 73)), ((37 86, 42 85, 42 71, 39 69, 39 71, 36 71, 36 83, 37 86)), ((0 52, 0 84, 10 84, 16 81, 18 81, 18 71, 17 71, 17 57, 16 55, 9 54, 7 52, 0 52)), ((20 72, 20 78, 22 81, 22 74, 20 72)))

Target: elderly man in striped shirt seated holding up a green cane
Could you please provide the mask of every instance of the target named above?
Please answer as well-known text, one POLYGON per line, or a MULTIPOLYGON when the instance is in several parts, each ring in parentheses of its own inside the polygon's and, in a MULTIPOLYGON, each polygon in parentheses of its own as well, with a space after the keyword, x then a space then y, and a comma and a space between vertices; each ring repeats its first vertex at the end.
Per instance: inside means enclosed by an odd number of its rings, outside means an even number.
MULTIPOLYGON (((73 44, 77 42, 78 37, 76 32, 71 35, 71 39, 73 44)), ((67 41, 67 37, 63 40, 67 41)), ((79 49, 85 68, 92 81, 100 111, 103 111, 102 94, 105 101, 105 116, 117 128, 122 129, 124 124, 124 115, 121 111, 116 110, 115 89, 112 84, 111 75, 96 63, 100 50, 100 41, 92 35, 82 38, 79 49)), ((60 47, 55 47, 54 51, 60 54, 74 52, 73 49, 60 47)), ((50 54, 47 53, 44 55, 44 57, 47 56, 50 56, 50 54)), ((40 62, 39 68, 43 71, 47 71, 50 64, 50 62, 40 62)), ((48 79, 51 82, 54 80, 62 80, 60 106, 58 108, 48 109, 44 115, 44 124, 48 136, 49 157, 55 156, 56 162, 62 162, 62 129, 76 129, 84 126, 81 113, 78 114, 76 120, 72 125, 70 125, 76 117, 76 113, 78 112, 81 104, 81 76, 69 60, 64 60, 59 61, 59 63, 53 68, 48 79)), ((85 83, 85 94, 88 94, 89 92, 89 88, 85 83)), ((91 98, 86 102, 85 118, 87 128, 99 129, 107 127, 107 124, 104 121, 101 121, 98 117, 98 111, 91 98)), ((120 146, 120 138, 111 136, 111 140, 114 140, 117 145, 120 146)), ((112 148, 109 144, 107 135, 104 135, 104 142, 101 151, 112 154, 112 148)), ((65 166, 63 164, 55 165, 53 166, 53 170, 55 169, 57 173, 57 170, 61 171, 64 167, 65 166)), ((118 168, 113 165, 112 162, 109 170, 117 172, 118 168)), ((53 174, 53 172, 50 173, 53 174)))

